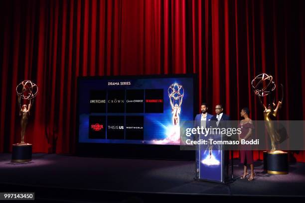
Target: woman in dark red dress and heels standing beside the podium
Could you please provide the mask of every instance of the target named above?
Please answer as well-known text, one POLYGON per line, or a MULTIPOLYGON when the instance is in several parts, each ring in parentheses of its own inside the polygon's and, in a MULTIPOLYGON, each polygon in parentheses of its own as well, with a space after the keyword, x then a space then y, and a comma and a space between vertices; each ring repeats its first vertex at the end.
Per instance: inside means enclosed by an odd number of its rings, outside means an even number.
MULTIPOLYGON (((245 107, 242 108, 240 115, 245 119, 240 121, 238 125, 241 128, 241 133, 238 135, 239 142, 242 139, 250 140, 252 135, 253 129, 253 122, 249 117, 250 111, 249 108, 245 107)), ((248 181, 254 180, 254 168, 253 168, 253 151, 251 150, 251 146, 249 145, 240 145, 240 162, 244 164, 244 174, 242 175, 241 179, 245 179, 249 173, 247 169, 247 164, 250 164, 251 175, 248 181)))

